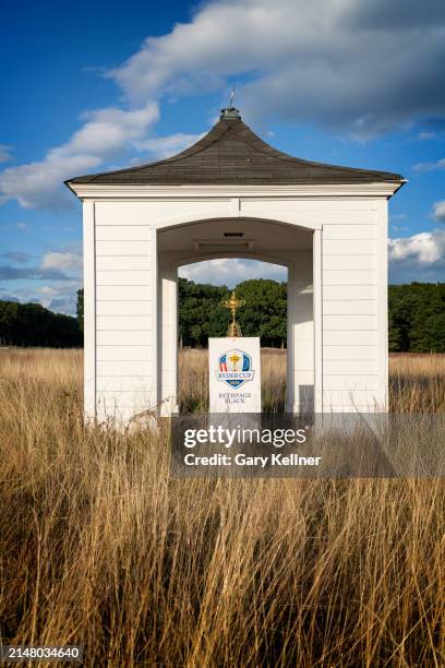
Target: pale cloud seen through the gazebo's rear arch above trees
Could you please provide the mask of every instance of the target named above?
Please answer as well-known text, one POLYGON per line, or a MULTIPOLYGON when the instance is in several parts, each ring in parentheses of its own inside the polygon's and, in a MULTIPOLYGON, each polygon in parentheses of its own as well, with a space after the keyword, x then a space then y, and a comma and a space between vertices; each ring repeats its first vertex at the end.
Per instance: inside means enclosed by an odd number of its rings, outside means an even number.
POLYGON ((224 258, 181 266, 179 275, 182 278, 189 278, 196 283, 227 285, 233 288, 242 281, 248 281, 249 278, 287 281, 287 269, 278 264, 260 262, 257 260, 224 258))

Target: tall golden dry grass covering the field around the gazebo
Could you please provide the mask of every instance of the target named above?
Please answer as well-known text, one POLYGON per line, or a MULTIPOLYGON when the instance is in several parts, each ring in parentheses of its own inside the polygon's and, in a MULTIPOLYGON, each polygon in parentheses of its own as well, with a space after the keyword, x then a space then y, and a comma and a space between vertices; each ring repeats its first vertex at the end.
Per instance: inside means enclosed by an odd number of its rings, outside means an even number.
MULTIPOLYGON (((171 479, 168 434, 85 430, 77 350, 0 350, 3 644, 87 666, 443 666, 441 480, 171 479)), ((282 354, 265 353, 267 408, 282 354)), ((202 405, 205 354, 181 357, 202 405), (204 360, 204 361, 203 361, 204 360)), ((445 358, 392 359, 444 411, 445 358)))

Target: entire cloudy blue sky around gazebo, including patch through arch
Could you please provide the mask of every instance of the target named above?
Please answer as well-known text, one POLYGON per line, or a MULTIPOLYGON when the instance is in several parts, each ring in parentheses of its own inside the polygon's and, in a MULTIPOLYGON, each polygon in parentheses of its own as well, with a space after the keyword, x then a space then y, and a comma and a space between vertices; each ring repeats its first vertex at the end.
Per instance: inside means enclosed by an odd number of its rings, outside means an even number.
MULTIPOLYGON (((0 299, 73 312, 79 174, 193 143, 237 85, 243 120, 299 157, 397 171, 390 279, 445 279, 443 0, 2 3, 0 299)), ((278 267, 218 261, 232 285, 278 267)))

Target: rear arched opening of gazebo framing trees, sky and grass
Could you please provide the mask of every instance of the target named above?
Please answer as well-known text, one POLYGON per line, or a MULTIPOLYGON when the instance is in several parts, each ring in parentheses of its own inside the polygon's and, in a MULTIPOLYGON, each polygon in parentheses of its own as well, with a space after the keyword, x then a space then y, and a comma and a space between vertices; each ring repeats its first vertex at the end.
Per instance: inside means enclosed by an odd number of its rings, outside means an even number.
POLYGON ((260 336, 262 407, 284 413, 287 387, 286 266, 245 258, 220 258, 178 271, 178 406, 208 410, 208 338, 224 337, 230 321, 222 306, 230 290, 245 301, 237 314, 243 336, 260 336))

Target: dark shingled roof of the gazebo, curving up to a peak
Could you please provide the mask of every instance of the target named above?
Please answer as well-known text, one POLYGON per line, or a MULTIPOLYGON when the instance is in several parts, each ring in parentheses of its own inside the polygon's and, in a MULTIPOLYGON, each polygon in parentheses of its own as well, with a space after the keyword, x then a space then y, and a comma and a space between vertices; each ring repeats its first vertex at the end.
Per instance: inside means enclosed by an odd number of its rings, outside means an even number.
POLYGON ((292 157, 273 148, 241 120, 224 109, 220 120, 199 142, 178 155, 117 171, 67 181, 94 184, 329 184, 402 182, 398 174, 338 167, 292 157))

